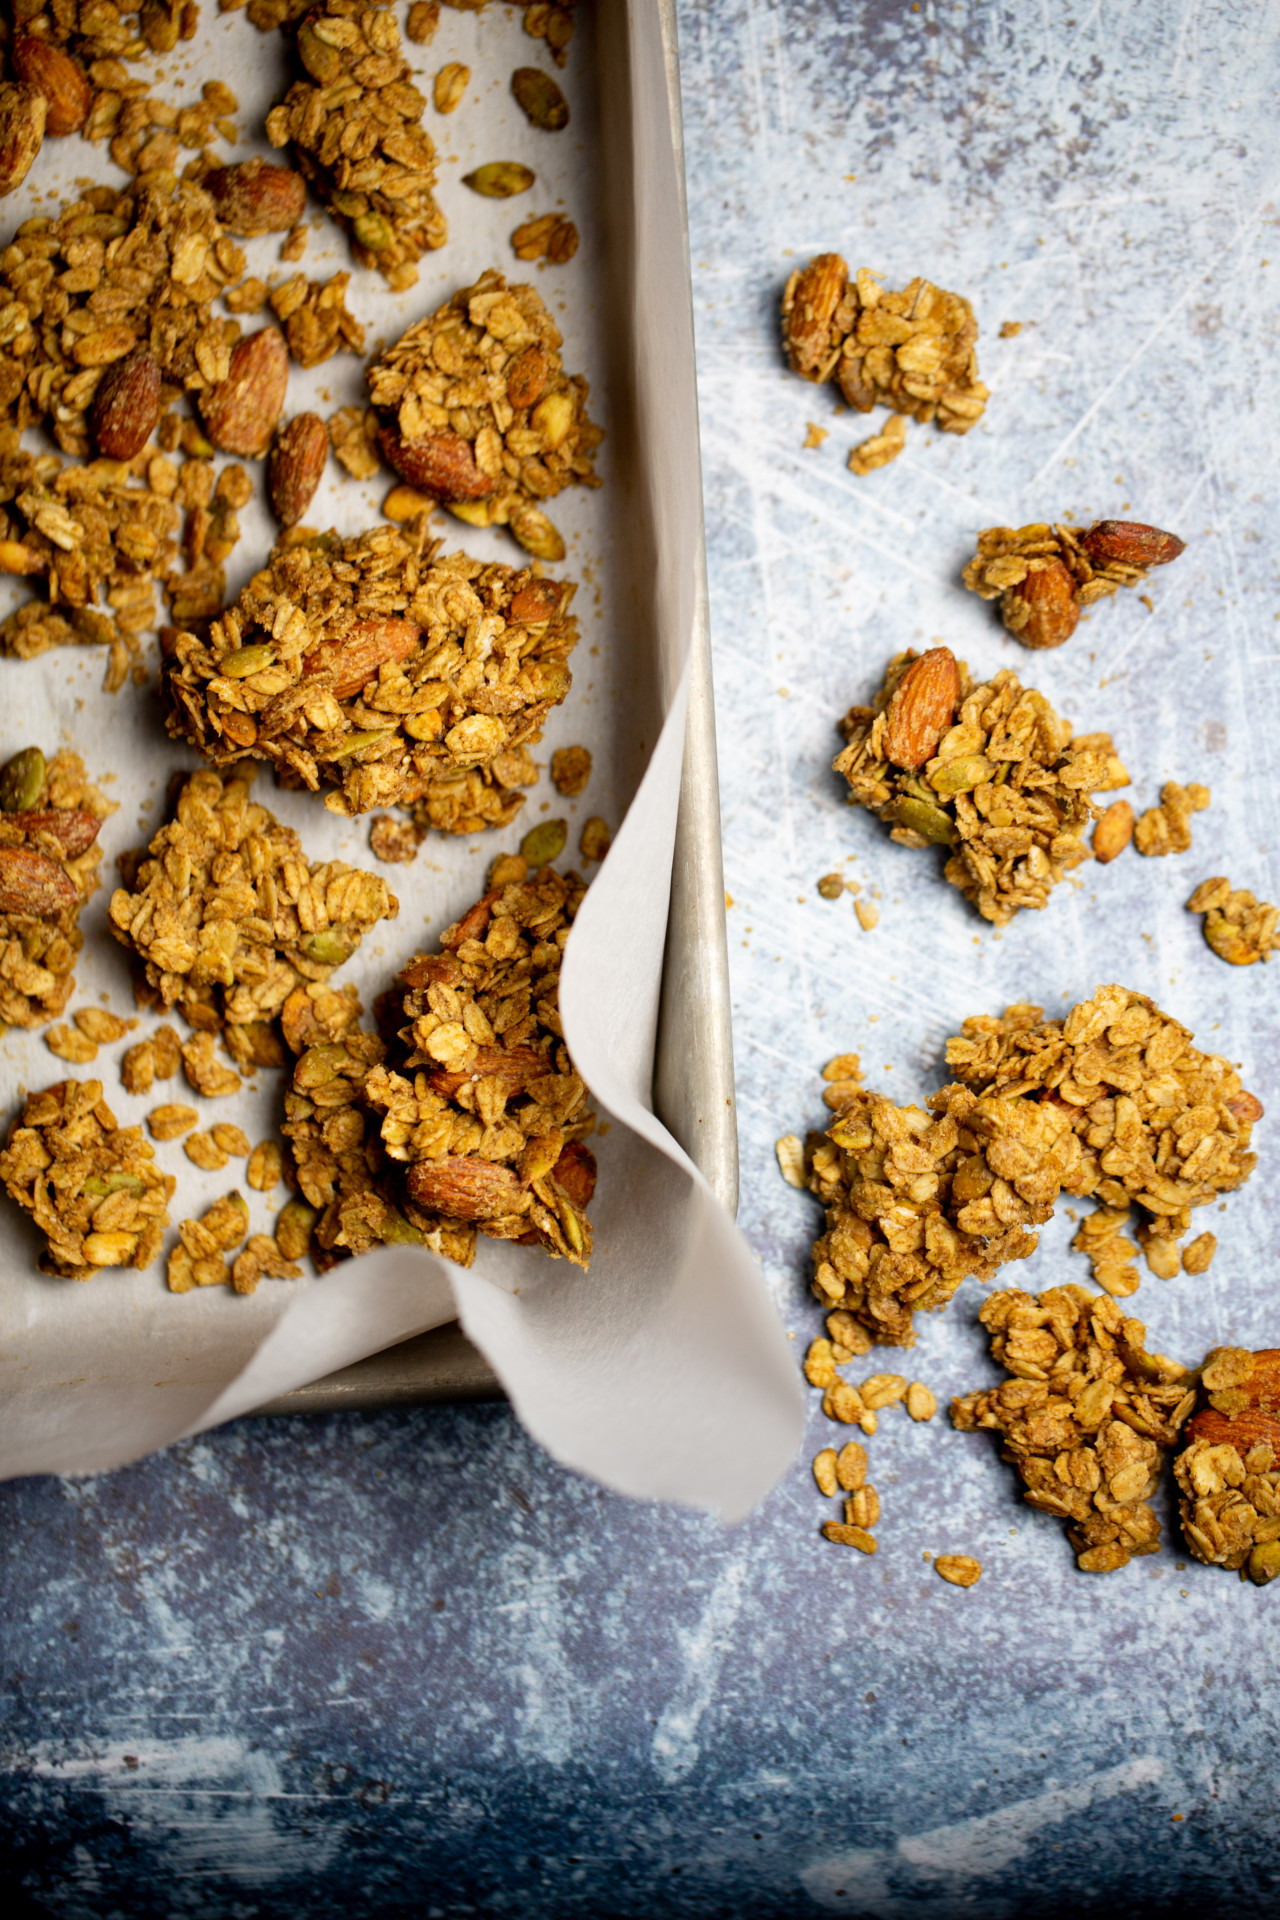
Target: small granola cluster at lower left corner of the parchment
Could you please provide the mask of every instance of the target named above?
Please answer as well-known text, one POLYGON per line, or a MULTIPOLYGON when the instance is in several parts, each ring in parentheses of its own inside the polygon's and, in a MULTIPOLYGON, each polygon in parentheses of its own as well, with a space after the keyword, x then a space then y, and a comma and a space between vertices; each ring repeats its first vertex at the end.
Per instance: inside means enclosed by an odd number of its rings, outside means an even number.
POLYGON ((140 1127, 117 1127, 102 1081, 27 1094, 0 1181, 48 1240, 44 1273, 88 1281, 100 1267, 150 1267, 159 1254, 175 1179, 140 1127))

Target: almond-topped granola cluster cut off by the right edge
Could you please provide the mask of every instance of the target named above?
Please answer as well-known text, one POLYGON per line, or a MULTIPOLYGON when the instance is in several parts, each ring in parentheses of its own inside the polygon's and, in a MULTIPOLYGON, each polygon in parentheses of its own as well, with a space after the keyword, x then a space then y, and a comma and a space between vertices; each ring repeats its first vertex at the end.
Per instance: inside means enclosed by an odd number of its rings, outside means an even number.
POLYGON ((1280 1574, 1280 1350, 1217 1346, 1173 1463, 1196 1559, 1267 1586, 1280 1574))

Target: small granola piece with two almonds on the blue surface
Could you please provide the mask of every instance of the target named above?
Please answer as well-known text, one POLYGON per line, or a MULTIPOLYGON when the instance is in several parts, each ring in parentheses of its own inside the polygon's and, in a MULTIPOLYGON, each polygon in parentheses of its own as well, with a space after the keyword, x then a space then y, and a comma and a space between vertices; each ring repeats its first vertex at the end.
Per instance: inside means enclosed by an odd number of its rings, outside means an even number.
POLYGON ((1153 566, 1176 561, 1184 541, 1138 520, 1090 528, 988 526, 963 570, 971 593, 1000 601, 1000 616, 1025 647, 1061 647, 1082 609, 1140 586, 1153 566))

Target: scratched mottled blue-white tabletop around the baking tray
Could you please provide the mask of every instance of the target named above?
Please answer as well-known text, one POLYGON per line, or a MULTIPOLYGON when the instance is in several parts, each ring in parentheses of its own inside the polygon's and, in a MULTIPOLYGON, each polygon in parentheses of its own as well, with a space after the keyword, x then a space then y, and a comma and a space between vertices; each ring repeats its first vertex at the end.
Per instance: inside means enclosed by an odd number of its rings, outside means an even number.
MULTIPOLYGON (((819 1117, 831 1052, 923 1092, 965 1012, 1119 977, 1280 1098, 1274 973, 1182 912, 1209 872, 1276 885, 1278 31, 681 4, 743 1219, 800 1338, 812 1215, 771 1142, 819 1117), (862 482, 865 428, 773 349, 789 250, 833 244, 969 292, 992 386, 967 440, 912 430, 862 482), (1126 595, 1031 662, 954 586, 983 524, 1126 505, 1188 538, 1151 614, 1126 595), (825 772, 835 714, 933 634, 1111 726, 1144 803, 1207 780, 1196 851, 981 931, 825 772), (816 897, 844 860, 873 935, 816 897)), ((1134 1302, 1167 1352, 1280 1336, 1263 1181, 1213 1225, 1207 1281, 1134 1302)), ((1017 1279, 1079 1279, 1067 1238, 1017 1279)), ((940 1398, 988 1377, 977 1300, 912 1359, 940 1398)), ((885 1417, 873 1478, 875 1561, 816 1538, 804 1465, 722 1534, 562 1475, 505 1407, 242 1423, 0 1488, 10 1878, 75 1920, 1274 1912, 1280 1594, 1173 1546, 1079 1576, 940 1425, 885 1417), (981 1586, 927 1549, 979 1553, 981 1586)))

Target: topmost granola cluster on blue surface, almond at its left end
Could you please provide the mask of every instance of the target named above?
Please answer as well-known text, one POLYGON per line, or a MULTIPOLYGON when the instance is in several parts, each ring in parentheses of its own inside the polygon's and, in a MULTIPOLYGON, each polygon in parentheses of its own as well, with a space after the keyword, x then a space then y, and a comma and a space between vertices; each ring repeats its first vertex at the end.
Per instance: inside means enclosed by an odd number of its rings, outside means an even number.
POLYGON ((783 346, 793 372, 835 380, 858 413, 885 405, 948 434, 967 434, 986 407, 977 336, 963 294, 919 276, 898 294, 887 292, 865 267, 850 280, 839 253, 819 253, 796 269, 783 294, 783 346))

